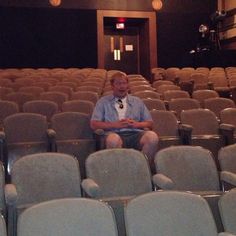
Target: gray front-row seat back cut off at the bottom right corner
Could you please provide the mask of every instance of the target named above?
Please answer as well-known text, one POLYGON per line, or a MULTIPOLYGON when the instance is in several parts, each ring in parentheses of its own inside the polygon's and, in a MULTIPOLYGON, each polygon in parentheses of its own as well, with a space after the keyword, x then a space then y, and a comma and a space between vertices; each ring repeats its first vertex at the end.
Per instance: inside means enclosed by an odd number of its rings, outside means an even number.
POLYGON ((236 234, 236 189, 222 195, 218 204, 225 231, 236 234))

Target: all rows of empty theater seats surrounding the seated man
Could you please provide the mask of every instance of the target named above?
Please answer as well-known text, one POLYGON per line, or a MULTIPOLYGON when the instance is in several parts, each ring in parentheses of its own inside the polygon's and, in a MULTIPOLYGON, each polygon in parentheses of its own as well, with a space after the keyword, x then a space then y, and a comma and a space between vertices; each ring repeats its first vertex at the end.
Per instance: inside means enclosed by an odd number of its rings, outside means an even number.
POLYGON ((81 229, 81 235, 236 234, 235 212, 227 218, 221 205, 231 198, 235 204, 236 69, 172 69, 155 68, 152 78, 127 75, 129 92, 144 101, 159 136, 155 172, 139 151, 101 150, 103 133, 90 128, 116 70, 0 70, 1 223, 8 236, 81 229), (199 86, 195 74, 207 83, 199 86), (213 83, 220 76, 226 87, 213 83))

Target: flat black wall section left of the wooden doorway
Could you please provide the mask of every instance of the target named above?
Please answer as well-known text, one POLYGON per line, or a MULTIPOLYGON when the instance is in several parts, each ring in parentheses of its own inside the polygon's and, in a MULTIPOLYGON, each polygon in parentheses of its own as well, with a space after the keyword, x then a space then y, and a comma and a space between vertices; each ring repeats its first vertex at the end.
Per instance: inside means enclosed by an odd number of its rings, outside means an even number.
POLYGON ((1 8, 1 67, 96 67, 93 10, 1 8))

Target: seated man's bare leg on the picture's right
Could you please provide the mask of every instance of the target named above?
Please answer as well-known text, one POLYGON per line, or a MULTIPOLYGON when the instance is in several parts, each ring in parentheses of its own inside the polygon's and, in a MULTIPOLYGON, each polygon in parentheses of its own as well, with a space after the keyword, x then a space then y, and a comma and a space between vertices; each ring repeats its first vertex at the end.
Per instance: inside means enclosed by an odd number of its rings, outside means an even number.
POLYGON ((144 131, 140 145, 142 152, 147 156, 152 173, 155 173, 154 157, 157 152, 158 136, 153 131, 144 131))

